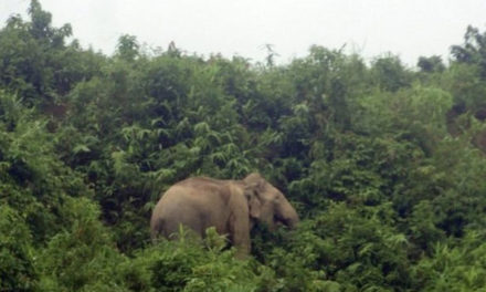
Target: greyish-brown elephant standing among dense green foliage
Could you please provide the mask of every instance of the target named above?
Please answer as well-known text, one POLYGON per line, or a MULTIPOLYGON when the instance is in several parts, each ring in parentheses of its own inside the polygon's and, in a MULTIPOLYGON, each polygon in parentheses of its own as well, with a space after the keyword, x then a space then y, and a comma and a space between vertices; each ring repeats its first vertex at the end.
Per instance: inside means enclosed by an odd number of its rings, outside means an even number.
POLYGON ((242 180, 191 177, 171 186, 159 199, 150 219, 154 240, 171 238, 182 225, 200 237, 214 227, 226 234, 236 248, 236 255, 250 254, 250 230, 257 222, 271 231, 282 223, 294 228, 298 215, 285 196, 260 174, 242 180))

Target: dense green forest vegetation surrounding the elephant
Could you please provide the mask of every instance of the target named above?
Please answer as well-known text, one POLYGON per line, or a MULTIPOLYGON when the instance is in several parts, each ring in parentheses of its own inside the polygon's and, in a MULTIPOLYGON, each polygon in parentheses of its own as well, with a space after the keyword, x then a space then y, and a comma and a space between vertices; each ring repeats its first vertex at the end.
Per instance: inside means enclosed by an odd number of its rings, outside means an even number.
POLYGON ((0 291, 484 291, 486 32, 415 69, 84 49, 32 0, 0 30, 0 291), (160 195, 261 173, 296 230, 152 244, 160 195))

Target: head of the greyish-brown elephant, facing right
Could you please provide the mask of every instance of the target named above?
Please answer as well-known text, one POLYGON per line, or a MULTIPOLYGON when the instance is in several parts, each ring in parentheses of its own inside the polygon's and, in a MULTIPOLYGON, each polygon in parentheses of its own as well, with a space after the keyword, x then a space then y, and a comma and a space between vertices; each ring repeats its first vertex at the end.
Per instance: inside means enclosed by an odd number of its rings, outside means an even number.
POLYGON ((251 174, 243 179, 243 182, 252 221, 262 221, 270 230, 274 230, 277 223, 289 228, 298 223, 298 215, 285 196, 262 176, 251 174))

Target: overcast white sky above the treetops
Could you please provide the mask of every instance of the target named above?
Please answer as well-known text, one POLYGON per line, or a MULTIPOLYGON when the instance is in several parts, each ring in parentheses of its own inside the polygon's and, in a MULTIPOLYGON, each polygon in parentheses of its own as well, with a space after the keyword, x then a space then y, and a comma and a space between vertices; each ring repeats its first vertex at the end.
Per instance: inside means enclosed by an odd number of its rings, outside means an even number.
MULTIPOLYGON (((274 45, 279 62, 306 55, 311 44, 370 59, 391 52, 415 65, 421 55, 448 59, 467 24, 486 30, 486 0, 40 0, 60 27, 112 54, 118 36, 187 52, 237 54, 254 61, 274 45)), ((12 13, 27 18, 30 0, 0 0, 1 27, 12 13)))

